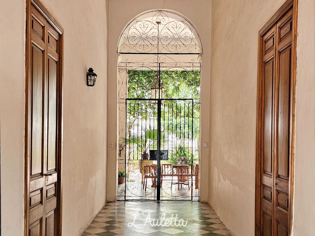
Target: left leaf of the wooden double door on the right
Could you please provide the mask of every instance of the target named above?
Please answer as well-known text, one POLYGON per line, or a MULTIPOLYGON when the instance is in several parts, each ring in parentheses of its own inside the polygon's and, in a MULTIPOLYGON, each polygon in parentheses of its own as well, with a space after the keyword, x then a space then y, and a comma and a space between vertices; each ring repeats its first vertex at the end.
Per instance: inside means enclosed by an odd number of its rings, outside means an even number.
POLYGON ((273 223, 273 181, 274 181, 274 98, 275 98, 275 54, 276 27, 262 37, 262 161, 261 161, 261 235, 272 235, 273 223))

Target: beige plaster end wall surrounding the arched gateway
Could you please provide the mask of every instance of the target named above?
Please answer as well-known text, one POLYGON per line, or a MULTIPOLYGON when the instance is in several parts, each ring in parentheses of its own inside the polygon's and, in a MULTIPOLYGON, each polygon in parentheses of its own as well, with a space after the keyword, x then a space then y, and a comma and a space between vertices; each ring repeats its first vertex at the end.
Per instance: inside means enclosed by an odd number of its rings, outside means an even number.
MULTIPOLYGON (((115 201, 117 185, 117 43, 124 27, 136 15, 151 9, 170 9, 186 16, 197 28, 203 44, 201 78, 201 143, 209 139, 209 85, 210 85, 210 35, 211 1, 209 0, 110 0, 109 1, 109 74, 108 74, 108 148, 107 159, 107 201, 115 201)), ((208 196, 208 154, 209 148, 200 150, 200 199, 208 196)))

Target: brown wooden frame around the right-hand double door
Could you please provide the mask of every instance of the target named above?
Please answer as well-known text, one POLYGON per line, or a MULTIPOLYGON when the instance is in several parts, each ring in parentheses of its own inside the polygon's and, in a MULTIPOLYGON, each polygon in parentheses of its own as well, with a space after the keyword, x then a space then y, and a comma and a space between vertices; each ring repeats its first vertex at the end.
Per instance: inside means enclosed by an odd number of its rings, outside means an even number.
POLYGON ((290 150, 290 174, 289 174, 289 235, 292 232, 292 209, 293 209, 293 187, 294 187, 294 154, 295 154, 295 86, 296 86, 296 39, 297 39, 297 8, 298 8, 298 0, 287 0, 278 11, 268 20, 268 22, 261 28, 259 31, 259 39, 258 39, 258 75, 257 75, 257 115, 256 115, 256 166, 255 166, 255 236, 261 236, 261 153, 262 153, 262 145, 261 140, 263 139, 263 131, 262 124, 263 118, 261 114, 261 109, 263 106, 263 94, 262 94, 262 36, 272 28, 272 26, 287 12, 289 8, 293 7, 293 15, 292 15, 292 36, 293 43, 293 53, 291 56, 291 60, 293 62, 293 66, 291 68, 291 75, 293 79, 293 98, 292 98, 292 122, 291 122, 291 130, 292 130, 292 138, 291 138, 291 150, 290 150))

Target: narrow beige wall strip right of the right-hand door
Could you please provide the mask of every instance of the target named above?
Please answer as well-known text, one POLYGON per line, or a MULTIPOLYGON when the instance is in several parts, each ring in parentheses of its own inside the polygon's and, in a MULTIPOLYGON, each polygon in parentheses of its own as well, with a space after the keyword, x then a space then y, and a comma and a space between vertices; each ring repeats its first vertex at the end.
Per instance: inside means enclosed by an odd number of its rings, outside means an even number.
POLYGON ((298 2, 293 236, 315 232, 315 2, 298 2))

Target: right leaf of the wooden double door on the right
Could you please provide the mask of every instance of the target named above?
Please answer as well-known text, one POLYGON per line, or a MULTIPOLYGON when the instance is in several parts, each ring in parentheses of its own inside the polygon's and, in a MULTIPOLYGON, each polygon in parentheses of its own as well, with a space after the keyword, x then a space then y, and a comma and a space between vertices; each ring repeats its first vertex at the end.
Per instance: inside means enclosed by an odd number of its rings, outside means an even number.
POLYGON ((274 235, 289 232, 289 175, 292 142, 292 9, 276 24, 277 85, 275 118, 274 235))

